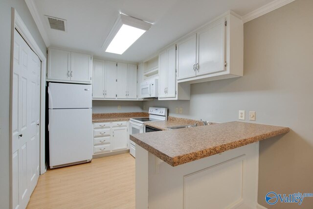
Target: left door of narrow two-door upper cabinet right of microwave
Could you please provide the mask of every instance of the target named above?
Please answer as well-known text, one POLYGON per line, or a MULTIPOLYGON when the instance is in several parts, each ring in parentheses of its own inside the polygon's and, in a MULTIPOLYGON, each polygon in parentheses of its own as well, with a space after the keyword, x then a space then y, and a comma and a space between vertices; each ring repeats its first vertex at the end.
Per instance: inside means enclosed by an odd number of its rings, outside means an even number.
POLYGON ((167 50, 158 55, 158 97, 166 97, 167 88, 167 50))

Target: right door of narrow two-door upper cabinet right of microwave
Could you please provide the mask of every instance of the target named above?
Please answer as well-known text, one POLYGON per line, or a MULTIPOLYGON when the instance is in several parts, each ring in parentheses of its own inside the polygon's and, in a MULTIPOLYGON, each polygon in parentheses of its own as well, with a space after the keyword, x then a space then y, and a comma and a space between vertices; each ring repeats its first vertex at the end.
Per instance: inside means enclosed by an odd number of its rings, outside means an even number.
POLYGON ((167 95, 176 97, 176 48, 167 49, 167 95))

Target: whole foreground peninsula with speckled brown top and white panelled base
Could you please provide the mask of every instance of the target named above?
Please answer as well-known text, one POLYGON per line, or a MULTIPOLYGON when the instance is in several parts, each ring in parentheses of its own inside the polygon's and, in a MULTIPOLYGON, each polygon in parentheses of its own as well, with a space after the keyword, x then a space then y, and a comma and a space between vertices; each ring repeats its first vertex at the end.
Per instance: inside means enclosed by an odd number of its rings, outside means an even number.
POLYGON ((131 135, 136 209, 255 209, 259 141, 289 131, 227 122, 131 135))

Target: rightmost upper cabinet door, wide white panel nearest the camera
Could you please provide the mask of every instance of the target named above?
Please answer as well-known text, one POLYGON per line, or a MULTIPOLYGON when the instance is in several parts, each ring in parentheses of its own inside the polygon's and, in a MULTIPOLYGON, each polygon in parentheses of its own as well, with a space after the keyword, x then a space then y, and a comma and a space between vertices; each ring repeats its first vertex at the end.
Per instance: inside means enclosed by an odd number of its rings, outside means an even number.
POLYGON ((222 18, 198 33, 197 75, 220 72, 225 69, 225 19, 222 18))

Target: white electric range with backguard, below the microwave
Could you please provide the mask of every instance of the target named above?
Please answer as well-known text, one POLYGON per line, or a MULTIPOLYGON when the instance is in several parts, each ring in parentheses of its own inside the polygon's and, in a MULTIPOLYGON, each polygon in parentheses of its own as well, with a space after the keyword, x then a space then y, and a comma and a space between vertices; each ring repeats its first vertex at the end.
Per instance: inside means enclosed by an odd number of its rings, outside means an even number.
MULTIPOLYGON (((145 133, 145 122, 167 120, 167 108, 149 107, 149 117, 130 118, 130 134, 145 133)), ((135 157, 136 144, 130 141, 130 154, 135 157)))

